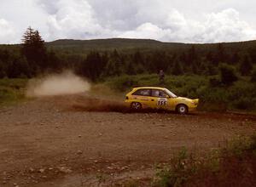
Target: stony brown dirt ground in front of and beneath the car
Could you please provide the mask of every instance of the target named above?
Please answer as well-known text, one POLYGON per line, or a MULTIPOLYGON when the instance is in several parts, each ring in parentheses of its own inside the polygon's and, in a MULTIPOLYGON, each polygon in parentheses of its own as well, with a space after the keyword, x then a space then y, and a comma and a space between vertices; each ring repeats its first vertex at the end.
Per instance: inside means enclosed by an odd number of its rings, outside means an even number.
POLYGON ((255 130, 256 116, 245 114, 133 113, 84 95, 34 99, 0 110, 0 186, 148 180, 182 146, 203 152, 255 130))

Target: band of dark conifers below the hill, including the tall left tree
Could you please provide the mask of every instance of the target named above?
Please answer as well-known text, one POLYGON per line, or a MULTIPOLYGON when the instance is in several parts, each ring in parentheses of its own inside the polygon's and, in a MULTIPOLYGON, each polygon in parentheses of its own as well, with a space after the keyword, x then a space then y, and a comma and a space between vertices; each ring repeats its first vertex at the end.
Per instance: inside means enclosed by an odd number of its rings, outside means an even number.
MULTIPOLYGON (((105 52, 93 50, 86 56, 72 53, 58 54, 46 48, 39 32, 29 27, 17 50, 9 46, 0 48, 0 78, 31 78, 46 72, 71 69, 91 81, 101 81, 106 77, 123 74, 157 73, 160 70, 177 76, 183 74, 214 76, 220 71, 229 75, 230 71, 233 71, 231 74, 253 79, 256 65, 255 49, 241 53, 224 48, 223 43, 219 43, 215 48, 206 49, 206 52, 201 52, 191 44, 188 49, 180 51, 152 49, 145 52, 133 49, 132 52, 125 53, 113 49, 105 52)), ((234 80, 235 77, 233 76, 234 80)))

